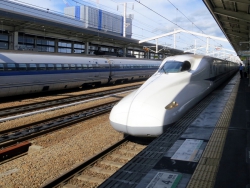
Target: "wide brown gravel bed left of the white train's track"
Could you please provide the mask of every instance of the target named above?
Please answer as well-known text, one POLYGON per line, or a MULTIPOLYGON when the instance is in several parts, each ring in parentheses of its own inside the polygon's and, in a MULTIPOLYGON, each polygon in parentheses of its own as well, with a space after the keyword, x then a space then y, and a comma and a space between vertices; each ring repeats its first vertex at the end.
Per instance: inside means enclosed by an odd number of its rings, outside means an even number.
POLYGON ((0 166, 0 187, 40 187, 122 138, 105 114, 35 139, 37 149, 0 166))

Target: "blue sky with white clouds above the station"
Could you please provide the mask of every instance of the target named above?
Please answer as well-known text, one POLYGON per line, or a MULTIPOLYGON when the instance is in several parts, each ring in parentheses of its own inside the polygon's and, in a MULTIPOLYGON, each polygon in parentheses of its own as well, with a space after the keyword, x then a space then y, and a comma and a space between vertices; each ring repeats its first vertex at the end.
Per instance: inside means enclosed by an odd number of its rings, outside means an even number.
MULTIPOLYGON (((123 3, 127 2, 127 15, 132 14, 132 38, 137 40, 184 29, 225 38, 213 16, 202 0, 11 0, 63 14, 66 6, 88 5, 123 15, 123 3), (118 7, 118 8, 117 8, 118 7), (117 10, 118 9, 118 10, 117 10)), ((206 38, 180 33, 176 35, 176 48, 188 50, 192 45, 205 51, 206 38)), ((154 43, 154 41, 150 41, 154 43)), ((159 39, 159 44, 173 48, 173 36, 159 39)), ((209 40, 210 52, 220 46, 233 50, 229 42, 209 40)), ((218 49, 218 48, 217 48, 218 49)), ((227 51, 229 52, 229 51, 227 51)), ((229 52, 231 53, 231 52, 229 52)))

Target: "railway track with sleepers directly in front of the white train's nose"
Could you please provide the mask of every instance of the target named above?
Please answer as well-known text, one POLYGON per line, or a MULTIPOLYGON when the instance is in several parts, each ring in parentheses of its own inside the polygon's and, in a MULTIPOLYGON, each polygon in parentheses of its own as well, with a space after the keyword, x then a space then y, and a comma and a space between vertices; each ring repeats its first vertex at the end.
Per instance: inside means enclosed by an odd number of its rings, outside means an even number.
POLYGON ((129 138, 124 138, 42 187, 97 187, 146 147, 130 142, 129 138))

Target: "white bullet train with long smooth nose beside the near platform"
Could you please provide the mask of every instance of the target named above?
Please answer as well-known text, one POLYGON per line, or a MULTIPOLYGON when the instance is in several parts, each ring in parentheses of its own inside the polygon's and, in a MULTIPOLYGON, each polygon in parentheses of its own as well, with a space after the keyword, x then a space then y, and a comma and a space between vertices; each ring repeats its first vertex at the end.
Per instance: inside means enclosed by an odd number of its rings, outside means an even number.
POLYGON ((125 134, 159 136, 237 70, 236 63, 208 56, 167 57, 138 90, 113 107, 110 123, 125 134))

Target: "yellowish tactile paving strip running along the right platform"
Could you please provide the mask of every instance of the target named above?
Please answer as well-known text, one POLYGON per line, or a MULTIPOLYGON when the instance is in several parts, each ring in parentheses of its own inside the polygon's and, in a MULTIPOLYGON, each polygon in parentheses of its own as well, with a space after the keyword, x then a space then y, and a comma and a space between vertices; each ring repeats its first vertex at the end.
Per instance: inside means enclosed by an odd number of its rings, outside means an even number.
POLYGON ((216 180, 219 163, 226 141, 228 127, 239 87, 239 79, 227 101, 201 159, 195 169, 188 188, 212 188, 216 180))

